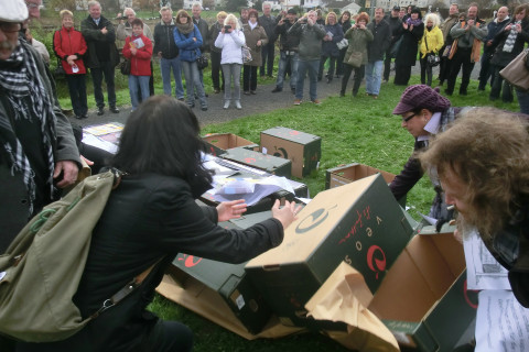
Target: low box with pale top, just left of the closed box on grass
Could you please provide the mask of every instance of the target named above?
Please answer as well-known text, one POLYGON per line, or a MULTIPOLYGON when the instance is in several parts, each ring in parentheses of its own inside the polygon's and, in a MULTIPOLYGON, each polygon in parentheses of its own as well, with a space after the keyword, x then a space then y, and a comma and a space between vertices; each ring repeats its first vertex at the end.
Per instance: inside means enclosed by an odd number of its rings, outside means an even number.
POLYGON ((291 161, 245 150, 242 147, 228 150, 226 151, 226 154, 223 154, 220 157, 264 170, 269 174, 284 176, 287 178, 290 178, 292 173, 291 161))

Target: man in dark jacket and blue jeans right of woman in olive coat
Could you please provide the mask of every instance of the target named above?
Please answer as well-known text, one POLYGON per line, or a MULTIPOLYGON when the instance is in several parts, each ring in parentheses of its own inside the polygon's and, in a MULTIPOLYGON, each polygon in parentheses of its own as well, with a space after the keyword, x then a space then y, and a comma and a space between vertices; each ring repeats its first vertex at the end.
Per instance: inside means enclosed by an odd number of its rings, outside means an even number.
POLYGON ((382 8, 375 10, 375 19, 367 25, 367 29, 373 33, 374 40, 367 48, 366 92, 377 99, 382 79, 384 53, 391 44, 391 29, 389 23, 384 20, 382 8))

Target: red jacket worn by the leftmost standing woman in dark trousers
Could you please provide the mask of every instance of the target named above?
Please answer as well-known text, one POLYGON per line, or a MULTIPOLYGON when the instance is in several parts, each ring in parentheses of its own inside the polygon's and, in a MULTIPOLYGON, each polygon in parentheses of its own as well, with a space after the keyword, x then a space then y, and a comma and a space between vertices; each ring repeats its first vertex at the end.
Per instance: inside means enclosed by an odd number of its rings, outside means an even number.
POLYGON ((64 26, 55 31, 53 34, 53 51, 55 55, 61 58, 63 64, 64 72, 66 75, 84 75, 86 74, 85 63, 83 62, 83 55, 85 55, 87 50, 85 38, 79 31, 71 29, 65 29, 64 26), (79 72, 74 74, 72 66, 68 65, 66 58, 69 55, 77 55, 77 59, 74 61, 79 72))

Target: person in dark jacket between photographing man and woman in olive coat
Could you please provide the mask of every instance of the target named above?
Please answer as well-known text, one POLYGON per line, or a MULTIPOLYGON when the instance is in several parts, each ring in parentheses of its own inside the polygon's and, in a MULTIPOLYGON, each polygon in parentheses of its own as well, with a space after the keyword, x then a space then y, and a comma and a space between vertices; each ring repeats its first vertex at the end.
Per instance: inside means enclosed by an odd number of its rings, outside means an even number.
POLYGON ((336 13, 328 12, 325 18, 325 36, 322 42, 322 57, 320 59, 320 72, 317 74, 317 80, 323 78, 323 68, 325 62, 330 58, 328 70, 325 77, 327 78, 327 84, 333 80, 334 68, 336 66, 336 59, 339 56, 339 50, 336 43, 344 38, 344 32, 342 25, 338 24, 336 13))

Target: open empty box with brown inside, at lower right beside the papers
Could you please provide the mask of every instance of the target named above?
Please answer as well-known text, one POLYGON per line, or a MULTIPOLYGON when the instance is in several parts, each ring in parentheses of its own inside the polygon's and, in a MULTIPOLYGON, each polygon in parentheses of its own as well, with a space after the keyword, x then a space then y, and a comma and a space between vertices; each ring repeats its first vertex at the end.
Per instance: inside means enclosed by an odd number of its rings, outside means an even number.
POLYGON ((476 316, 477 293, 466 289, 463 245, 453 233, 415 235, 369 305, 399 344, 453 351, 476 316))

